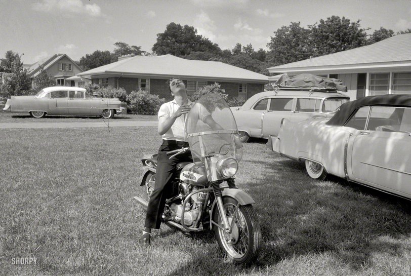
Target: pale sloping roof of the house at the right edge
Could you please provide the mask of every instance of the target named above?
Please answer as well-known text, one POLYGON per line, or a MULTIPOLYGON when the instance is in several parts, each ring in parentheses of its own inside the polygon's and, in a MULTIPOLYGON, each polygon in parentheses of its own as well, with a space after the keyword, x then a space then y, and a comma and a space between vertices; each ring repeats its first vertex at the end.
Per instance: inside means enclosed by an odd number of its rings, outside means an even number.
POLYGON ((288 72, 296 69, 368 67, 391 63, 411 62, 411 33, 394 35, 386 40, 351 50, 270 67, 270 72, 288 72), (332 67, 330 67, 332 66, 332 67))

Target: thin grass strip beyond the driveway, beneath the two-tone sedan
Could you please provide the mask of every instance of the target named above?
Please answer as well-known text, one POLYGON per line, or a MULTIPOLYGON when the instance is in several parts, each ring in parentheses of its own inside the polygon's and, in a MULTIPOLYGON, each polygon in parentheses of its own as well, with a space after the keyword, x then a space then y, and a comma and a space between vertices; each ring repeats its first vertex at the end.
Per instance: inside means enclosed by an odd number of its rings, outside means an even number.
MULTIPOLYGON (((86 117, 86 116, 59 116, 46 115, 43 118, 35 119, 28 113, 11 113, 0 109, 0 123, 26 123, 26 122, 98 122, 101 117, 86 117)), ((114 115, 111 120, 127 120, 127 121, 156 121, 157 115, 138 115, 138 114, 119 114, 114 115)))

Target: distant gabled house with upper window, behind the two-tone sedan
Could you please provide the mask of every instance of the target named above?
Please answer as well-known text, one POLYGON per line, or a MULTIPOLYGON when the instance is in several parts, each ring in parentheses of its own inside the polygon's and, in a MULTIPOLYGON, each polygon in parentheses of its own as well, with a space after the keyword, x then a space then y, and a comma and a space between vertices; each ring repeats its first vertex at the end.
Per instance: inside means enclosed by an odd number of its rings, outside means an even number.
POLYGON ((54 77, 56 85, 59 86, 74 86, 75 82, 67 81, 67 78, 83 72, 66 54, 55 54, 26 66, 31 80, 33 80, 43 68, 49 75, 54 77))

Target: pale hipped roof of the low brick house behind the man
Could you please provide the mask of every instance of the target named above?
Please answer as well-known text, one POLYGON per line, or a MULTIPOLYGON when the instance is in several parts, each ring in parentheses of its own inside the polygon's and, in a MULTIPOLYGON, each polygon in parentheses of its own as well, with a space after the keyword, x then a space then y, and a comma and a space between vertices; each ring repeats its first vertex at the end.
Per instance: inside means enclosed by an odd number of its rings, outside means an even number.
POLYGON ((100 66, 77 75, 127 74, 146 76, 180 76, 216 80, 241 80, 268 83, 268 76, 219 61, 189 60, 163 55, 135 56, 100 66))

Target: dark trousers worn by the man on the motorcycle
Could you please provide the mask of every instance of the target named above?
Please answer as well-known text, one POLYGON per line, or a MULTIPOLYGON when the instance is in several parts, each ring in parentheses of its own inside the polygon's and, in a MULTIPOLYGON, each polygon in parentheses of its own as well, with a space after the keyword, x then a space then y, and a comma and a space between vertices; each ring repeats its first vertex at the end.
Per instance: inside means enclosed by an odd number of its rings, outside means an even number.
POLYGON ((155 186, 148 202, 144 227, 160 228, 161 216, 166 200, 171 197, 173 192, 172 182, 176 177, 176 166, 180 162, 193 162, 190 151, 178 154, 172 159, 169 159, 172 154, 167 155, 167 152, 187 146, 187 142, 162 140, 162 145, 158 149, 155 186))

